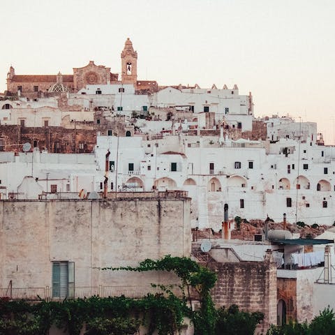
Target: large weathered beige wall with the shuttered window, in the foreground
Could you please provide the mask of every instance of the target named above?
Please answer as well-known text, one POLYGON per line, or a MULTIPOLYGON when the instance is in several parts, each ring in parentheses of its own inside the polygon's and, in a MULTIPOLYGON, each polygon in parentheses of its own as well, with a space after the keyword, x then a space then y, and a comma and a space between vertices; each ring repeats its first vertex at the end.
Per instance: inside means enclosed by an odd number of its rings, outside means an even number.
MULTIPOLYGON (((146 258, 191 255, 190 200, 0 202, 0 288, 52 285, 52 262, 75 262, 75 286, 165 283, 156 273, 101 271, 146 258), (147 279, 145 279, 147 278, 147 279)), ((168 279, 167 279, 168 278, 168 279)))

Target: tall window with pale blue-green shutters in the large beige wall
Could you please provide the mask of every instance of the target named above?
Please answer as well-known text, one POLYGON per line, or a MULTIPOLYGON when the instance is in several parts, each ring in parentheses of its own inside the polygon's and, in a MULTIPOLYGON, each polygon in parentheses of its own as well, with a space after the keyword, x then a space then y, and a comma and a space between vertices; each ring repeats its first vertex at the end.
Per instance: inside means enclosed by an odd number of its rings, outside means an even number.
POLYGON ((52 297, 72 298, 75 294, 75 262, 52 262, 52 297))

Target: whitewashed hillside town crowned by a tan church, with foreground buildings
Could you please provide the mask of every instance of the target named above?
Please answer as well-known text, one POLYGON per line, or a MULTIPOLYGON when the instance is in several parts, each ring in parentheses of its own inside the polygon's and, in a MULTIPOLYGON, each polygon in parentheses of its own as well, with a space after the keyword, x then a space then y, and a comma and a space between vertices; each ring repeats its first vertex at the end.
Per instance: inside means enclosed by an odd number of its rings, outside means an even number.
POLYGON ((314 122, 255 117, 242 93, 139 80, 129 38, 120 75, 10 66, 0 297, 137 297, 175 278, 99 269, 172 255, 216 271, 217 305, 264 313, 258 334, 334 307, 335 149, 314 122))

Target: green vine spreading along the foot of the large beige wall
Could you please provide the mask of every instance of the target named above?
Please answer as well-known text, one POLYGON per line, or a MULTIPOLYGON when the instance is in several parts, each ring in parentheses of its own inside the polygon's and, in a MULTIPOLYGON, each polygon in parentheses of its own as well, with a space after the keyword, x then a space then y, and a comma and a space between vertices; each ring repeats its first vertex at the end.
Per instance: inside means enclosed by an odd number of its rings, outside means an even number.
MULTIPOLYGON (((141 326, 147 329, 147 335, 154 332, 172 335, 181 329, 185 317, 191 319, 195 335, 222 334, 222 322, 226 321, 211 299, 216 274, 209 269, 189 258, 170 255, 161 260, 144 260, 138 267, 104 268, 107 269, 171 271, 181 279, 179 287, 183 294, 174 295, 173 286, 153 285, 161 288, 161 292, 141 299, 94 296, 61 302, 41 299, 34 304, 0 299, 0 335, 47 335, 52 325, 70 335, 79 335, 83 330, 86 335, 134 334, 141 326), (195 295, 200 301, 197 311, 191 307, 191 297, 195 295)), ((241 323, 241 319, 238 320, 241 323)))

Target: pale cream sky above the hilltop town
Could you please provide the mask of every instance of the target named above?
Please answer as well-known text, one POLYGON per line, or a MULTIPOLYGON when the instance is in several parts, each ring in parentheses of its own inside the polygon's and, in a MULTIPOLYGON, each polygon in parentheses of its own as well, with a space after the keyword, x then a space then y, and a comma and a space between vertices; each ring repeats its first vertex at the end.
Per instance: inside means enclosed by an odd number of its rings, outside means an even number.
POLYGON ((237 84, 255 116, 318 122, 335 144, 334 0, 1 1, 0 91, 17 75, 72 74, 94 60, 121 70, 127 37, 137 78, 237 84))

